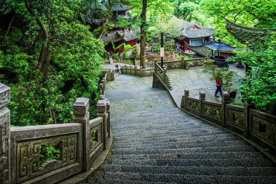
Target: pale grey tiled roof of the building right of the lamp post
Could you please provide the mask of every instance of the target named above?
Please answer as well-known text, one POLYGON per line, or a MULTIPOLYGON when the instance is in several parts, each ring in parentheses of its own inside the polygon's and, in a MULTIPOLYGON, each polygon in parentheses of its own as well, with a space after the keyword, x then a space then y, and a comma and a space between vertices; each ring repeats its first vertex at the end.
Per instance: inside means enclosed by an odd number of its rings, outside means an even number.
POLYGON ((179 36, 185 36, 187 38, 201 38, 212 36, 215 33, 214 28, 201 26, 195 21, 188 22, 175 16, 173 16, 172 19, 181 26, 181 30, 179 30, 179 36))

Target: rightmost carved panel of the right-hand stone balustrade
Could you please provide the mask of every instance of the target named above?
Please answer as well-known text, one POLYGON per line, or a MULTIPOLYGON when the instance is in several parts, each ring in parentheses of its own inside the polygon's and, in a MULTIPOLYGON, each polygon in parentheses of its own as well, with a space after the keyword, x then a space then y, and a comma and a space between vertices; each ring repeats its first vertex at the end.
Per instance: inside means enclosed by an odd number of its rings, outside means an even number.
POLYGON ((274 145, 275 123, 252 115, 252 132, 274 145))

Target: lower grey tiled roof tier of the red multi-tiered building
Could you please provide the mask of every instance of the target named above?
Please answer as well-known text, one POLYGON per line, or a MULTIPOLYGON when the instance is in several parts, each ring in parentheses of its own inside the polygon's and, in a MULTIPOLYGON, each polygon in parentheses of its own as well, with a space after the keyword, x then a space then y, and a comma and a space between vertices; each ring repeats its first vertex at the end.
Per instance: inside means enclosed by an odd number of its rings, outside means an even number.
POLYGON ((121 40, 123 41, 130 41, 139 38, 140 36, 137 35, 137 33, 140 33, 138 30, 133 30, 133 31, 115 31, 112 33, 105 33, 102 34, 100 39, 104 42, 111 42, 113 41, 114 43, 119 42, 121 40))

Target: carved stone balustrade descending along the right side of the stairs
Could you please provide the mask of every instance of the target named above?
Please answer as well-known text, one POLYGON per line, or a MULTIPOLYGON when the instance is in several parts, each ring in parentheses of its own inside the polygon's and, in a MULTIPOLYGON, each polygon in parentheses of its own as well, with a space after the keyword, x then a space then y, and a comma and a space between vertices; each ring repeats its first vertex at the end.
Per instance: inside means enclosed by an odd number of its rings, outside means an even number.
POLYGON ((244 107, 230 105, 227 92, 222 92, 221 103, 206 101, 203 91, 200 91, 199 96, 199 99, 190 98, 189 90, 185 89, 181 108, 204 121, 237 132, 276 155, 276 116, 255 110, 247 102, 244 107))

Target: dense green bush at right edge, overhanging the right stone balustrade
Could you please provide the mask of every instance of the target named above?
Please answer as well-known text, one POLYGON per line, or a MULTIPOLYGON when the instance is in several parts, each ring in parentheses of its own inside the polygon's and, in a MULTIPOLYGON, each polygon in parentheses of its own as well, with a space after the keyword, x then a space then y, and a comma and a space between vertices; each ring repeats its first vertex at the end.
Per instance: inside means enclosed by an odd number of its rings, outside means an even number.
POLYGON ((268 113, 276 113, 276 34, 264 43, 250 45, 255 50, 237 51, 233 61, 242 61, 251 68, 240 86, 243 98, 250 100, 256 108, 268 113))

